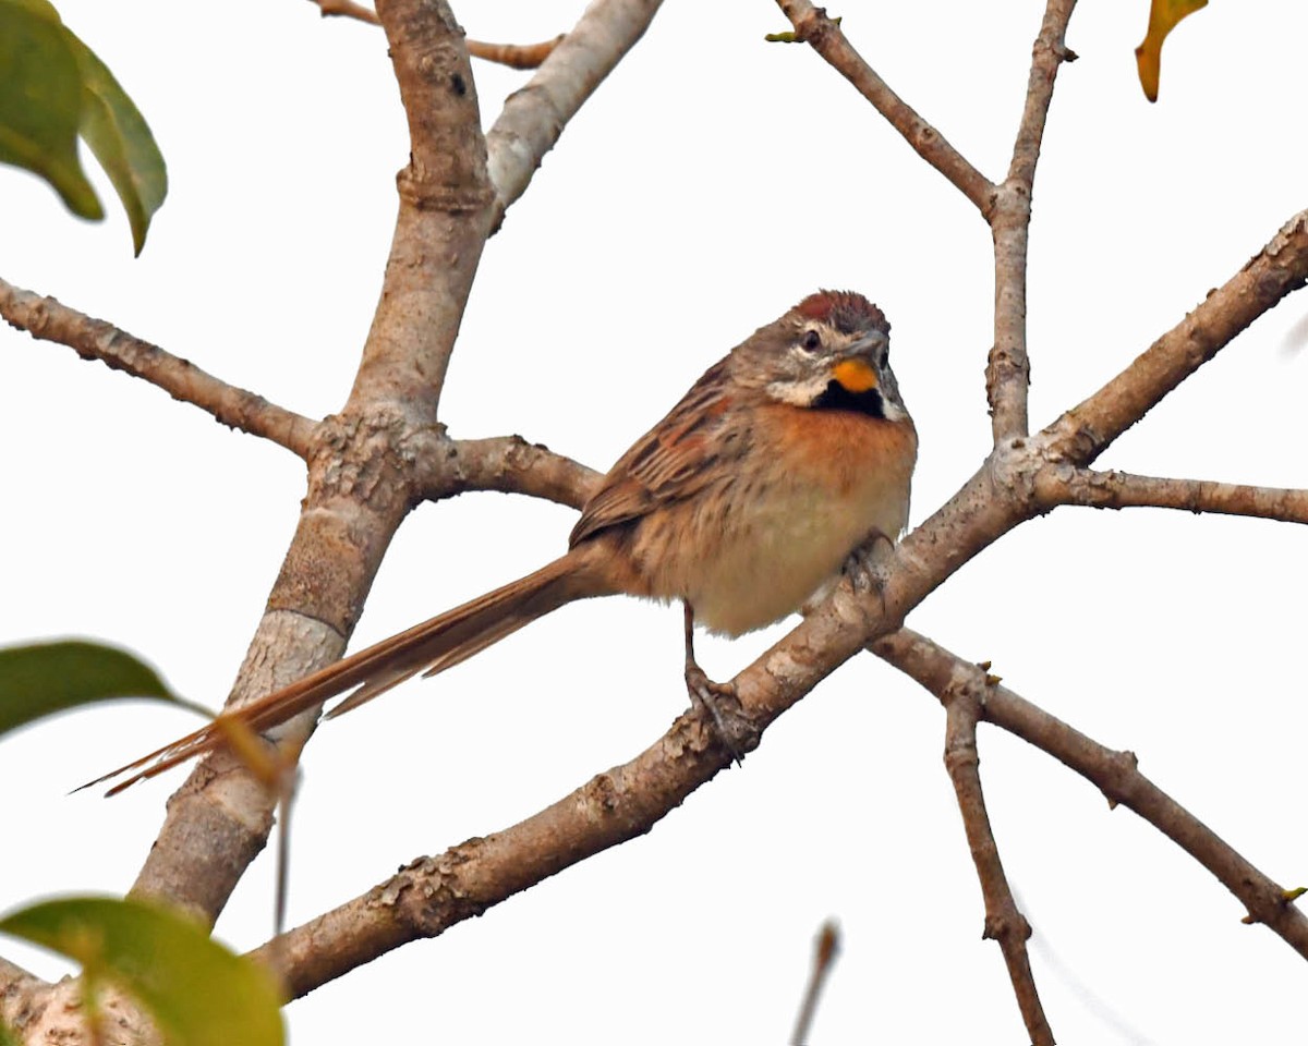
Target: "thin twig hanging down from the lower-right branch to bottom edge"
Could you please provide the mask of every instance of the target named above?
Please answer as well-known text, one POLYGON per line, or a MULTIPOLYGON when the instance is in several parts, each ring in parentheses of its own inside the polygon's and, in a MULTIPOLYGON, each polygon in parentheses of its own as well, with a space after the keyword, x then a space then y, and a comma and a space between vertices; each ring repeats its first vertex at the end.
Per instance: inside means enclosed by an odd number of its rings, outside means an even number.
POLYGON ((1027 954, 1031 924, 1018 910, 1018 902, 1008 888, 981 788, 977 719, 984 713, 985 685, 984 676, 978 680, 968 673, 956 676, 937 694, 946 713, 944 766, 954 782, 968 847, 981 881, 981 896, 985 898, 985 931, 981 936, 999 944, 1012 991, 1018 996, 1018 1009, 1022 1011, 1032 1043, 1054 1046, 1054 1034, 1049 1029, 1044 1007, 1040 1005, 1036 979, 1031 973, 1031 957, 1027 954))

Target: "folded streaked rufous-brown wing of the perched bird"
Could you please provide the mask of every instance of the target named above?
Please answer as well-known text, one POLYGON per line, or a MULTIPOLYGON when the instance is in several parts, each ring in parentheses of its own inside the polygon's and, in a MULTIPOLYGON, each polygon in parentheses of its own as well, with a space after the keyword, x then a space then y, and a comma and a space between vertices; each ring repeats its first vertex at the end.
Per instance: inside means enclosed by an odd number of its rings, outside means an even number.
POLYGON ((695 496, 722 475, 714 465, 742 452, 744 433, 732 437, 723 421, 731 400, 722 379, 725 366, 723 360, 709 367, 681 401, 617 459, 582 509, 570 547, 659 505, 695 496))

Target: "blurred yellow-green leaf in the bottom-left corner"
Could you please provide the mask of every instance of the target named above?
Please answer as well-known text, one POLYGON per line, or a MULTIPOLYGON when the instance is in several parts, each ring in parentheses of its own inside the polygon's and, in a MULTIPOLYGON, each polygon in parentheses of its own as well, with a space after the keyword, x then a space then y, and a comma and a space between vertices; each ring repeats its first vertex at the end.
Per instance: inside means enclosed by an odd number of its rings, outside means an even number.
POLYGON ((0 932, 81 962, 133 996, 177 1046, 281 1046, 272 975, 190 919, 135 900, 69 897, 0 919, 0 932))

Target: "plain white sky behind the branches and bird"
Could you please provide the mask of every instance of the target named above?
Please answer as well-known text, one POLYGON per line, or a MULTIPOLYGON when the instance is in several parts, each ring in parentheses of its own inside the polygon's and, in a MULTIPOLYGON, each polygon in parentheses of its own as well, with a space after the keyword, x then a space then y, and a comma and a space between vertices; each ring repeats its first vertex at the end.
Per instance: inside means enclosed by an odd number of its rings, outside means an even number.
MULTIPOLYGON (((381 285, 407 139, 379 30, 307 3, 63 0, 169 163, 144 255, 0 171, 0 275, 109 319, 309 416, 348 392, 381 285)), ((483 3, 470 35, 534 42, 581 4, 483 3)), ((1300 4, 1214 4, 1168 41, 1148 106, 1146 0, 1083 4, 1036 186, 1032 421, 1044 425, 1227 280, 1292 213, 1300 4)), ((844 29, 985 174, 1007 166, 1042 5, 852 3, 844 29)), ((714 360, 819 286, 893 323, 918 422, 913 523, 989 447, 984 222, 763 0, 670 3, 564 132, 488 246, 442 414, 606 467, 714 360)), ((527 73, 475 67, 489 126, 527 73)), ((1308 485, 1291 297, 1100 464, 1308 485)), ((8 447, 0 642, 84 634, 152 659, 217 706, 290 539, 302 468, 144 382, 0 331, 8 447)), ((564 548, 572 514, 493 494, 399 533, 358 649, 564 548)), ((1284 885, 1303 822, 1304 533, 1261 520, 1061 509, 964 567, 909 624, 994 662, 1023 696, 1142 770, 1284 885)), ((419 854, 508 826, 630 758, 685 706, 680 611, 568 608, 439 681, 331 723, 303 768, 298 924, 419 854)), ((702 641, 730 677, 783 629, 702 641)), ((105 801, 72 786, 190 730, 120 703, 0 743, 0 907, 123 892, 173 774, 105 801)), ((984 727, 1007 871, 1036 927, 1059 1041, 1303 1041, 1304 965, 1126 809, 984 727)), ((944 773, 933 697, 871 656, 824 683, 743 769, 649 835, 400 949, 288 1009, 300 1043, 778 1042, 819 924, 842 953, 812 1042, 1024 1042, 944 773)), ((218 923, 267 936, 266 854, 218 923)), ((59 961, 5 940, 42 975, 59 961)))

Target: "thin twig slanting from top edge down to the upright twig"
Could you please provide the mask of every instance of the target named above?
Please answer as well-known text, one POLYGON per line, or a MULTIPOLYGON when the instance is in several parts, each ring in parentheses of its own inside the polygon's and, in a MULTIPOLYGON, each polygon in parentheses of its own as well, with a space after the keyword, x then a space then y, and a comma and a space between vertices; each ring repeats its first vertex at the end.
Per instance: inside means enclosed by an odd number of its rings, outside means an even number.
POLYGON ((827 63, 844 76, 899 131, 918 156, 988 214, 995 186, 972 166, 931 124, 900 98, 862 55, 845 39, 840 25, 827 17, 823 8, 808 0, 777 0, 782 13, 795 27, 795 38, 808 43, 827 63))

